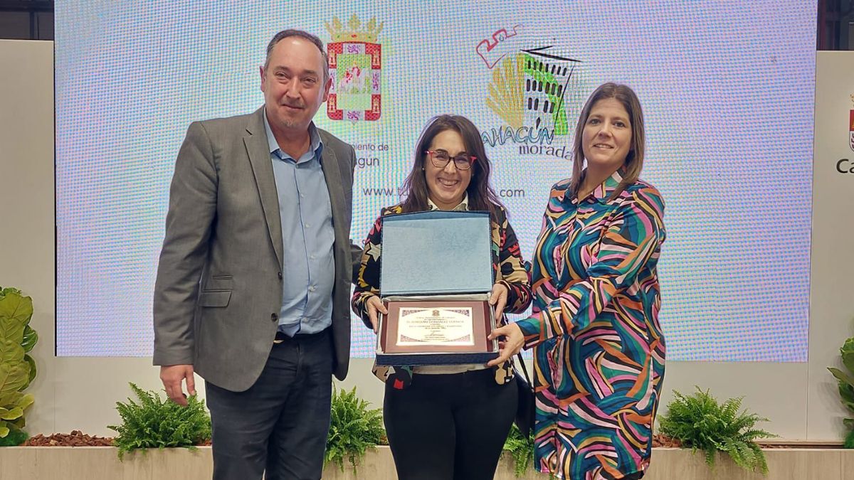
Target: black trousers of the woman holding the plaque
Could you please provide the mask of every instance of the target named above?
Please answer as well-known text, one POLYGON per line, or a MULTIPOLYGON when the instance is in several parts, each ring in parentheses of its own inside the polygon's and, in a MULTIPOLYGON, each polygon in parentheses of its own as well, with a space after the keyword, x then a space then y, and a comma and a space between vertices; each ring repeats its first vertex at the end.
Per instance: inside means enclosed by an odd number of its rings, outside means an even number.
POLYGON ((489 368, 415 374, 407 389, 386 383, 383 418, 400 480, 488 480, 516 414, 514 379, 489 368))

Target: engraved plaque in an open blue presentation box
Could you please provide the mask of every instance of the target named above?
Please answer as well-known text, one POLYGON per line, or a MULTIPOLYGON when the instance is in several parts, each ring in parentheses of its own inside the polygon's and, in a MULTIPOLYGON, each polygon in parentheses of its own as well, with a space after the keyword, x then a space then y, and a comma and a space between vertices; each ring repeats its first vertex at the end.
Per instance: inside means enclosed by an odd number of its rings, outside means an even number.
POLYGON ((379 365, 486 363, 495 321, 486 212, 431 211, 383 217, 379 365))

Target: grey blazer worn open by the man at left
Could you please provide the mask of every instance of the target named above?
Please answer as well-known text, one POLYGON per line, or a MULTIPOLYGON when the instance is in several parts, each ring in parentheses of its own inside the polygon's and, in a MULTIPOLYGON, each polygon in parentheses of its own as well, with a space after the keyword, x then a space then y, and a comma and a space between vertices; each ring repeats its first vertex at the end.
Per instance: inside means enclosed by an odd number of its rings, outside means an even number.
MULTIPOLYGON (((191 364, 224 389, 249 389, 272 348, 282 307, 282 226, 264 128, 254 114, 194 122, 169 190, 154 296, 154 364, 191 364)), ((349 241, 355 152, 329 132, 321 165, 332 204, 336 378, 350 356, 349 241)))

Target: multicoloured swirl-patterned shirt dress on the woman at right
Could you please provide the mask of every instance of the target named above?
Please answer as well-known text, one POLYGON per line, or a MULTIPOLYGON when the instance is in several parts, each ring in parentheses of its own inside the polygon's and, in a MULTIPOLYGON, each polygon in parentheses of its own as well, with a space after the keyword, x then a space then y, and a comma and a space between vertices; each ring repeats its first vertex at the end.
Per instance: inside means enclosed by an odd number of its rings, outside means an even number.
POLYGON ((614 173, 580 201, 570 180, 553 186, 532 316, 518 322, 525 347, 536 346, 535 467, 559 478, 635 477, 652 453, 664 202, 640 180, 610 198, 621 181, 614 173))

